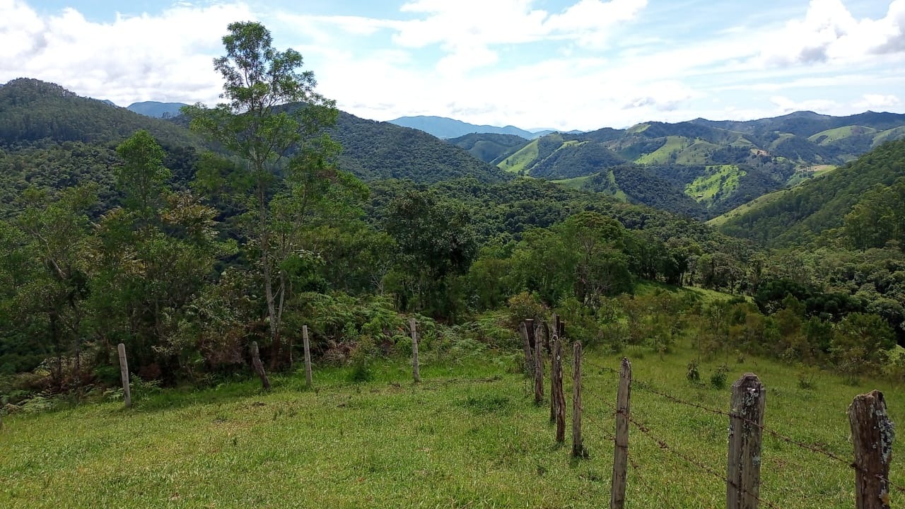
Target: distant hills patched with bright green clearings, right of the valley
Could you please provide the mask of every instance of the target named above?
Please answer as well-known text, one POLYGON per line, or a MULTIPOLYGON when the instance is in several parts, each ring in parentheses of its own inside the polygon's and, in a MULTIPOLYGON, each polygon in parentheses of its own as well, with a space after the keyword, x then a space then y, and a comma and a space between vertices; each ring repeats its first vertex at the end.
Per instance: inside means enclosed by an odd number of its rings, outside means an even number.
POLYGON ((842 165, 903 135, 905 115, 892 113, 830 117, 798 112, 748 122, 646 122, 627 130, 550 134, 513 146, 493 162, 510 173, 565 180, 572 186, 577 178, 583 186, 593 180, 587 188, 603 187, 616 197, 713 217, 813 178, 813 168, 842 165), (646 178, 649 185, 634 179, 623 187, 612 170, 628 168, 626 164, 647 168, 657 179, 646 178), (659 179, 671 185, 663 186, 659 179), (675 197, 676 189, 697 205, 675 197))

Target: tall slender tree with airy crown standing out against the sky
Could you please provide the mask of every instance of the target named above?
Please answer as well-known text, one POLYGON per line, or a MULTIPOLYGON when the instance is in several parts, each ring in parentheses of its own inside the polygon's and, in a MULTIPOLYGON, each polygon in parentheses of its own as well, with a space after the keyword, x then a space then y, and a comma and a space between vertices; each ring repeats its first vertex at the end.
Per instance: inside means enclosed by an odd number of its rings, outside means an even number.
POLYGON ((226 55, 214 59, 224 78, 224 102, 213 109, 184 109, 191 128, 205 134, 235 159, 246 193, 243 225, 259 259, 271 335, 271 364, 281 353, 281 303, 289 274, 285 257, 312 203, 336 177, 332 160, 338 145, 324 128, 336 122, 335 102, 315 91, 314 73, 302 70, 301 54, 273 48, 271 33, 253 22, 230 24, 223 38, 226 55), (279 220, 274 220, 278 217, 279 220))

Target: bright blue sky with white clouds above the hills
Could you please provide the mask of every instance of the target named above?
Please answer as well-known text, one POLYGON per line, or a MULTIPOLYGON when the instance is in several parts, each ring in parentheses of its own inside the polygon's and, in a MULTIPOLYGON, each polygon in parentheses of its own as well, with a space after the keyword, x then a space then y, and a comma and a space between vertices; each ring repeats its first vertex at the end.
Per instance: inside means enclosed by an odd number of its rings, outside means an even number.
POLYGON ((522 129, 905 113, 905 0, 0 0, 0 83, 213 105, 233 21, 373 120, 522 129))

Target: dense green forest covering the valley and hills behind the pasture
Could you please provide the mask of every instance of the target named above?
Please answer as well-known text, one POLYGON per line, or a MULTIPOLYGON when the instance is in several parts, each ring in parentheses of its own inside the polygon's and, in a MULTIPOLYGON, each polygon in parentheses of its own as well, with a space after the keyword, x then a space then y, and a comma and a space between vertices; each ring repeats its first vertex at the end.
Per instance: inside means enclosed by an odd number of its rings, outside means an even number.
MULTIPOLYGON (((684 334, 704 356, 905 371, 888 357, 905 341, 905 141, 717 231, 692 217, 687 178, 668 164, 628 164, 590 142, 609 131, 534 142, 533 168, 549 178, 621 161, 584 188, 505 174, 422 132, 339 112, 260 24, 230 31, 216 61, 226 102, 171 122, 41 82, 0 88, 8 387, 112 383, 119 342, 141 379, 245 371, 251 341, 284 370, 301 324, 319 359, 356 362, 404 349, 410 315, 435 341, 511 347, 500 323, 549 312, 570 337, 614 351, 668 351, 684 334), (252 85, 237 78, 250 65, 238 42, 254 48, 252 85), (615 183, 633 199, 611 197, 615 183)), ((715 129, 699 124, 685 128, 715 129)))

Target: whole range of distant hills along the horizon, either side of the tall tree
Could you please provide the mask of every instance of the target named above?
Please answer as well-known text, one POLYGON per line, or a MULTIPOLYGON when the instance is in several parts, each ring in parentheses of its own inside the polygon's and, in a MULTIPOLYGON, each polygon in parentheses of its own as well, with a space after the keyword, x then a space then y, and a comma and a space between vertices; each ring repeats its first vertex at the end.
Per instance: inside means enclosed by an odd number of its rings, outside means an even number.
MULTIPOLYGON (((205 144, 185 128, 181 117, 154 119, 52 83, 14 80, 0 87, 0 197, 10 204, 30 185, 62 187, 86 179, 110 191, 113 148, 139 129, 157 137, 169 154, 167 165, 187 183, 205 144)), ((330 133, 343 146, 340 167, 366 181, 470 177, 500 183, 526 176, 708 219, 748 204, 732 216, 738 217, 769 203, 771 192, 832 174, 885 141, 905 137, 905 115, 799 111, 750 121, 645 122, 536 139, 469 133, 441 140, 341 112, 330 133)), ((824 199, 823 191, 809 199, 824 199)), ((741 231, 734 225, 747 224, 728 216, 718 223, 734 234, 741 231)))

